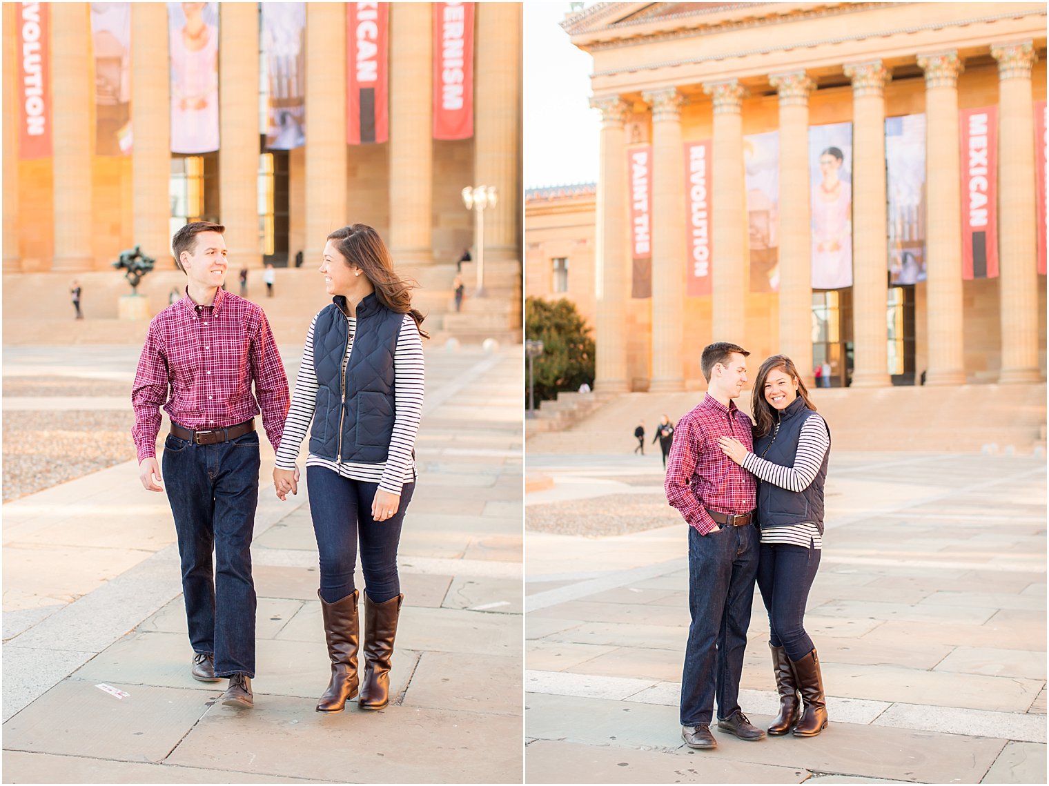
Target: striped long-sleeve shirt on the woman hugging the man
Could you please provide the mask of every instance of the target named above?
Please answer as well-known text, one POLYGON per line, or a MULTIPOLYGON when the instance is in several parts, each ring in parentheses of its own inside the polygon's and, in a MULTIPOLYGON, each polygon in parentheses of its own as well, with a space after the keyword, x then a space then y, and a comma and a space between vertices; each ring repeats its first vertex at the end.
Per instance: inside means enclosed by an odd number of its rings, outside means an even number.
MULTIPOLYGON (((776 424, 776 428, 779 425, 776 424)), ((820 466, 823 456, 831 447, 823 419, 818 415, 810 415, 801 426, 798 434, 797 453, 794 455, 794 466, 785 467, 766 461, 754 453, 747 453, 743 467, 754 476, 771 483, 788 491, 804 491, 809 488, 820 466)), ((793 524, 788 527, 768 527, 762 530, 763 544, 789 544, 806 548, 822 549, 823 538, 819 528, 810 522, 793 524)))

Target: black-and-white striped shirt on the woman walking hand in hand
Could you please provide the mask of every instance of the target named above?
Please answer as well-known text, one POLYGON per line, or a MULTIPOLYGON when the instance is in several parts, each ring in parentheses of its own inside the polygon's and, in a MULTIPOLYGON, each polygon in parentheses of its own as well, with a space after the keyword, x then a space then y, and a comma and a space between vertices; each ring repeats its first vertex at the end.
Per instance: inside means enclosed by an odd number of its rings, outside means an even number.
MULTIPOLYGON (((349 342, 346 355, 342 359, 343 370, 349 361, 354 349, 354 334, 357 330, 357 319, 349 321, 349 342)), ((309 323, 306 333, 306 344, 302 349, 302 365, 295 380, 295 392, 292 395, 292 408, 287 412, 284 424, 284 434, 281 438, 280 450, 277 451, 277 467, 295 469, 299 446, 302 444, 309 422, 317 406, 317 373, 314 369, 314 327, 317 317, 309 323)), ((380 464, 361 464, 357 462, 337 463, 328 459, 309 453, 307 467, 325 467, 338 472, 343 477, 366 483, 378 483, 383 491, 400 494, 401 488, 415 477, 415 461, 412 449, 415 445, 415 433, 419 431, 419 421, 423 415, 423 388, 425 373, 423 363, 423 340, 415 326, 415 320, 410 315, 404 315, 401 333, 398 335, 397 349, 393 353, 393 402, 397 413, 393 418, 393 433, 390 437, 390 448, 387 460, 380 464)))

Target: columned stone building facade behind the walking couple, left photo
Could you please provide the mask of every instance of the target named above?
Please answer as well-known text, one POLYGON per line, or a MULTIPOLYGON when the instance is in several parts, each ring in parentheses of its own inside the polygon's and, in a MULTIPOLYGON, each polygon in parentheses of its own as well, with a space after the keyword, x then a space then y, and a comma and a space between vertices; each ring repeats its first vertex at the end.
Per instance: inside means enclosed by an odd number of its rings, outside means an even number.
POLYGON ((304 3, 305 143, 275 150, 260 134, 261 6, 218 3, 220 146, 187 155, 172 152, 169 42, 176 39, 168 33, 168 4, 131 3, 133 146, 113 155, 95 146, 101 80, 91 4, 48 3, 52 153, 26 157, 19 150, 19 64, 24 15, 36 5, 3 5, 4 274, 108 271, 117 253, 134 245, 170 268, 172 227, 196 218, 227 226, 232 265, 292 267, 302 252, 315 268, 326 234, 360 221, 386 239, 397 264, 450 293, 455 261, 474 243, 474 215, 461 190, 486 185, 499 196, 484 215, 494 283, 488 290, 517 303, 519 322, 519 5, 474 6, 473 129, 466 139, 444 140, 431 133, 441 46, 433 6, 391 3, 388 141, 349 145, 347 14, 357 4, 304 3))

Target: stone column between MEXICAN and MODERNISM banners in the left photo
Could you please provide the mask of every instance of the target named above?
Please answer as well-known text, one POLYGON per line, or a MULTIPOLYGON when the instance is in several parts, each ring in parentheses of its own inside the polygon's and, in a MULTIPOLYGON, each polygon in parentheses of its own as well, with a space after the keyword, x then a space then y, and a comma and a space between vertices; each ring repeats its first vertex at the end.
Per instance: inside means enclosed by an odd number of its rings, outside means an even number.
POLYGON ((397 264, 433 261, 431 19, 428 3, 390 5, 390 253, 397 264))

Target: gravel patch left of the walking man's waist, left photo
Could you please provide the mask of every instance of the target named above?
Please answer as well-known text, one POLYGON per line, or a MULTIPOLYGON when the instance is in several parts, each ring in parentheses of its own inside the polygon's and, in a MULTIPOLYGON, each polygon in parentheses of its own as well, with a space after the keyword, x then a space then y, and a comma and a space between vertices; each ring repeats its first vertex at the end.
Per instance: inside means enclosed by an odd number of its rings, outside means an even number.
MULTIPOLYGON (((29 395, 44 394, 38 388, 29 395)), ((3 502, 134 459, 133 425, 130 401, 127 411, 7 413, 3 419, 3 502)))

